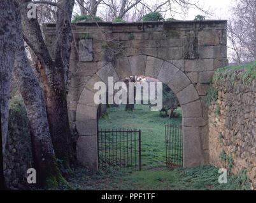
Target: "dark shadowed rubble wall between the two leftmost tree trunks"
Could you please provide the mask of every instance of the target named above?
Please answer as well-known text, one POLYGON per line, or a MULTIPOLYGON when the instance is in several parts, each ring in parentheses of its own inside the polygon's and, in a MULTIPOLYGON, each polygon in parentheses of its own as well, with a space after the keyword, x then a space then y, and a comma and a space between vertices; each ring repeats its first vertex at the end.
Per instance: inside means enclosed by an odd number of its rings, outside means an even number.
POLYGON ((21 99, 11 100, 8 138, 4 152, 6 187, 27 190, 27 169, 32 167, 31 138, 25 107, 21 99))

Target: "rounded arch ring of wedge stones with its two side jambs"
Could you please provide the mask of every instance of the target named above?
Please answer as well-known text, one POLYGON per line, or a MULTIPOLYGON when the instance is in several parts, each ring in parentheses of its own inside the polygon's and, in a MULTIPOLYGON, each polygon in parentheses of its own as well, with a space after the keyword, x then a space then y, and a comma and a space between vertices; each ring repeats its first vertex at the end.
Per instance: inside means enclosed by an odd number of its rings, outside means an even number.
POLYGON ((77 158, 84 166, 97 170, 97 105, 93 98, 94 83, 114 82, 131 75, 145 75, 168 84, 176 94, 183 114, 183 166, 206 163, 201 131, 206 126, 200 96, 188 76, 172 63, 152 56, 129 56, 106 62, 85 84, 76 109, 77 158))

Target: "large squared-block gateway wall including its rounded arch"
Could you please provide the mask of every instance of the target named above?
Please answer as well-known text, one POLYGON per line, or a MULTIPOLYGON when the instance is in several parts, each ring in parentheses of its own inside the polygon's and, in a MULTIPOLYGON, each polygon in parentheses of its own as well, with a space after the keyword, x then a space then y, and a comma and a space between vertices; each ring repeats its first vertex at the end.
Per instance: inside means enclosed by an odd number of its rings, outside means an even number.
MULTIPOLYGON (((44 28, 52 51, 55 25, 44 28)), ((145 75, 166 83, 183 114, 183 164, 209 163, 208 108, 204 96, 218 67, 227 65, 227 22, 79 22, 73 24, 68 108, 76 155, 97 170, 97 105, 94 84, 145 75)), ((116 128, 116 126, 113 126, 116 128)))

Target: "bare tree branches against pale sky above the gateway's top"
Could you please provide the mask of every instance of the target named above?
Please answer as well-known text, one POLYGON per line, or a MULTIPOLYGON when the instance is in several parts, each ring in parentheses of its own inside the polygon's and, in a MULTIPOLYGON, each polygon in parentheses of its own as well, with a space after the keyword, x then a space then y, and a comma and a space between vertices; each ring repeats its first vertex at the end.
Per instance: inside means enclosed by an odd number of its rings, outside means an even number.
MULTIPOLYGON (((148 13, 159 12, 165 18, 167 15, 174 18, 174 15, 185 16, 188 8, 194 7, 204 11, 198 6, 196 0, 76 0, 80 8, 79 15, 100 16, 104 21, 112 22, 115 19, 125 21, 140 21, 148 13), (90 5, 96 5, 92 11, 90 5)), ((207 13, 204 11, 204 13, 207 13)))

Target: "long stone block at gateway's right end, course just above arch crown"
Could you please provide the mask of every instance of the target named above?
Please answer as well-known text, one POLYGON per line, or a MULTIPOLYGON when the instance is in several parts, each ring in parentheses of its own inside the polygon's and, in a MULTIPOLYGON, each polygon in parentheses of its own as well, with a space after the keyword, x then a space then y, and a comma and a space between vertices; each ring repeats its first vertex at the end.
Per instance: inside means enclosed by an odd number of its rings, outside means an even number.
POLYGON ((199 58, 227 58, 227 46, 199 46, 199 58))

